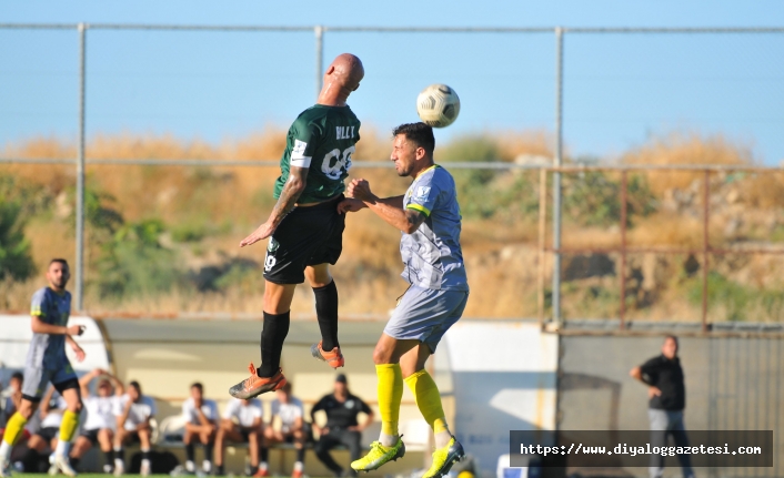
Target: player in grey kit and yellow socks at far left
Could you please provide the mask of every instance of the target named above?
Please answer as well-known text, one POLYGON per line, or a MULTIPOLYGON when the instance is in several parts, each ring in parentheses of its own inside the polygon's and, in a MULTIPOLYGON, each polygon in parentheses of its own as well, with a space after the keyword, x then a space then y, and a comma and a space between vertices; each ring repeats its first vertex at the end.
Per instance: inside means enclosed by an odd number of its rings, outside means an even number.
POLYGON ((77 475, 69 462, 68 452, 79 426, 82 400, 79 394, 79 380, 66 356, 66 344, 73 349, 79 362, 83 360, 84 350, 72 336, 81 335, 84 327, 68 326, 68 318, 71 314, 71 294, 66 291, 66 285, 70 277, 68 262, 54 258, 47 267, 49 286, 39 289, 32 296, 30 312, 32 340, 24 364, 22 399, 19 409, 8 420, 6 435, 0 443, 0 477, 10 476, 11 449, 21 437, 24 425, 38 408, 41 395, 49 383, 54 386, 67 403, 52 466, 68 476, 77 475))

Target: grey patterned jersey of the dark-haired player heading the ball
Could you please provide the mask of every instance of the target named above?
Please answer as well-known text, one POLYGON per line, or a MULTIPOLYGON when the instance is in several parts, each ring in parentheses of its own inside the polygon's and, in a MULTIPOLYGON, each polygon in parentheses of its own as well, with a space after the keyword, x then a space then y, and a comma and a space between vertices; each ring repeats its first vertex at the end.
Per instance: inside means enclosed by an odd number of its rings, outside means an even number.
POLYGON ((403 233, 400 240, 403 278, 422 288, 469 291, 460 247, 462 217, 452 175, 435 164, 421 172, 405 192, 403 207, 426 216, 413 234, 403 233))

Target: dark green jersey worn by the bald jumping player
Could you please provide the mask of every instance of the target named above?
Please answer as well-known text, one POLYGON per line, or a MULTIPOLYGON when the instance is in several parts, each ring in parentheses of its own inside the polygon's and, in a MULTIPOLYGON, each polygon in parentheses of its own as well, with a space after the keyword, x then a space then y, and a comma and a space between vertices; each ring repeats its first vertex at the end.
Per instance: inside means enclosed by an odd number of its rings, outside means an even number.
POLYGON ((318 203, 342 193, 358 141, 360 120, 349 106, 316 104, 300 113, 289 129, 274 197, 280 197, 291 166, 308 167, 298 203, 318 203))

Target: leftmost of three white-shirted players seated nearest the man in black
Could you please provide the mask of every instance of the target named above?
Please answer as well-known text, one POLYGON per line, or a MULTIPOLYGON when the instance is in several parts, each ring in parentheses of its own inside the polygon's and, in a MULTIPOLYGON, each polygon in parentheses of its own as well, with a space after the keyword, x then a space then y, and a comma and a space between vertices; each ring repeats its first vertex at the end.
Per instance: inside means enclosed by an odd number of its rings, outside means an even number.
POLYGON ((218 406, 214 400, 204 398, 204 386, 200 383, 191 385, 191 397, 182 403, 182 416, 185 419, 185 433, 182 441, 185 444, 185 470, 195 472, 195 443, 204 447, 202 469, 205 474, 212 471, 212 448, 218 431, 218 406))

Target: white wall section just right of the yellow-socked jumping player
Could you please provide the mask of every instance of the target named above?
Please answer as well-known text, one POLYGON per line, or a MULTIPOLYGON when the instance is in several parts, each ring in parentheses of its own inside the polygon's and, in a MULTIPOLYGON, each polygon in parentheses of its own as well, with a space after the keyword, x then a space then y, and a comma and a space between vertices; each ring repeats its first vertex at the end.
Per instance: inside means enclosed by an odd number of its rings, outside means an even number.
POLYGON ((510 430, 553 430, 559 340, 536 323, 460 321, 435 354, 440 389, 454 396, 453 433, 495 475, 510 430))

